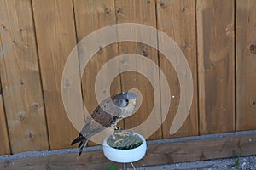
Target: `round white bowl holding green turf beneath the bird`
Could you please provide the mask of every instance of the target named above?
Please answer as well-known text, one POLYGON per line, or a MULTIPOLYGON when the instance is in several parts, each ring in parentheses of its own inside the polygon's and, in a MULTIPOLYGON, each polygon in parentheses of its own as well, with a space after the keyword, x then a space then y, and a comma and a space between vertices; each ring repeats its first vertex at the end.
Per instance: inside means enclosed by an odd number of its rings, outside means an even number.
POLYGON ((104 155, 110 160, 110 161, 116 161, 119 163, 128 163, 133 161, 139 161, 143 158, 146 154, 147 150, 147 144, 144 137, 138 133, 137 134, 142 140, 143 144, 138 146, 137 148, 133 148, 131 150, 118 150, 115 148, 112 148, 108 145, 107 140, 108 137, 104 139, 103 141, 103 153, 104 155))

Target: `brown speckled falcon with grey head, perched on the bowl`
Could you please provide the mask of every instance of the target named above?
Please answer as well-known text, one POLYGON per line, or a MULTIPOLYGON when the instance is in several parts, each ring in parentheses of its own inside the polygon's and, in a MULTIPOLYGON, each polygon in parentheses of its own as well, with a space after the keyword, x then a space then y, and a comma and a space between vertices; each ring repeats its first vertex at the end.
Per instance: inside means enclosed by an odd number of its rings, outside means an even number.
POLYGON ((84 146, 90 137, 102 132, 105 128, 118 129, 117 123, 133 114, 137 106, 137 95, 131 92, 121 92, 104 99, 94 111, 84 120, 84 127, 71 145, 79 143, 79 154, 81 156, 84 146))

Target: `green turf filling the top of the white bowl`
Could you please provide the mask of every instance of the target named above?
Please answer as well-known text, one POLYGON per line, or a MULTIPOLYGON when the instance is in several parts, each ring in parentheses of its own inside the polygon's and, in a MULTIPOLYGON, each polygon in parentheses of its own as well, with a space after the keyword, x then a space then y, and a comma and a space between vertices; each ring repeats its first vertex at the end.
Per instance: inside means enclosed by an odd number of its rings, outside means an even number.
POLYGON ((116 131, 107 140, 108 145, 118 150, 131 150, 143 144, 137 134, 128 131, 116 131))

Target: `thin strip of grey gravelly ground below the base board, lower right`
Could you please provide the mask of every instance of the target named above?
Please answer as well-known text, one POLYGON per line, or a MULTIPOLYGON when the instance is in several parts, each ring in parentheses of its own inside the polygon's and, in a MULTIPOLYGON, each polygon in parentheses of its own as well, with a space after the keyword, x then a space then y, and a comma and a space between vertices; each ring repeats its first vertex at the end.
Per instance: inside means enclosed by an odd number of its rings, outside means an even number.
MULTIPOLYGON (((133 170, 133 168, 127 168, 133 170)), ((136 170, 256 170, 256 156, 192 161, 155 167, 136 167, 136 170)))

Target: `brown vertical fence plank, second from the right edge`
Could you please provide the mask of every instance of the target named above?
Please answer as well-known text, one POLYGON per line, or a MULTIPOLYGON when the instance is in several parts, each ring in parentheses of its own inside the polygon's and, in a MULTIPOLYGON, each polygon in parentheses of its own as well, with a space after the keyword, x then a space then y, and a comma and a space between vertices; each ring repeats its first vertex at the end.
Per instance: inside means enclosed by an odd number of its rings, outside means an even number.
POLYGON ((197 1, 200 132, 235 130, 234 1, 197 1))

